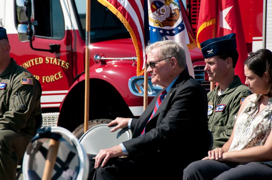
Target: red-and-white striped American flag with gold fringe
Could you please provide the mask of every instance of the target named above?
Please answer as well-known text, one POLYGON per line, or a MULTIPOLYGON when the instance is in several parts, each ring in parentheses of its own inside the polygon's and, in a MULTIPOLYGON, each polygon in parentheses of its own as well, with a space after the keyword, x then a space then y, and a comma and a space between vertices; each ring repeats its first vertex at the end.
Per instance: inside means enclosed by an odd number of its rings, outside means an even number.
POLYGON ((137 76, 145 70, 143 0, 97 0, 114 13, 130 33, 137 55, 137 76))

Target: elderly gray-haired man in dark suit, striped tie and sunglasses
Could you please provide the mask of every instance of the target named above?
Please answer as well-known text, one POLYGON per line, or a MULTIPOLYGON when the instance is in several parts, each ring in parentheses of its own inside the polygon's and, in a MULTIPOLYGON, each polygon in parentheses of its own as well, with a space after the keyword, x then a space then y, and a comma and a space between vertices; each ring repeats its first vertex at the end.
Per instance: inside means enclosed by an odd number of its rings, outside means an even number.
POLYGON ((146 54, 152 83, 164 89, 139 119, 116 118, 109 123, 117 124, 112 131, 129 127, 133 137, 100 150, 95 160, 90 157, 90 179, 182 178, 190 162, 206 156, 207 94, 188 74, 184 48, 166 40, 149 45, 146 54))

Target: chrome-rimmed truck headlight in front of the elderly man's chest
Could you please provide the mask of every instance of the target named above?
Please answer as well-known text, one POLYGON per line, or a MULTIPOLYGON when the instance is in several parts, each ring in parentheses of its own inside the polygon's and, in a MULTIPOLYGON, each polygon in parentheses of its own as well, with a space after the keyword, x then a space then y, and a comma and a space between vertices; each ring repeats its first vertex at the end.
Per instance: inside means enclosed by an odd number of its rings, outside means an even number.
MULTIPOLYGON (((128 87, 132 94, 144 96, 144 76, 133 76, 128 81, 128 87)), ((156 96, 162 87, 151 83, 151 77, 148 77, 148 96, 156 96)))

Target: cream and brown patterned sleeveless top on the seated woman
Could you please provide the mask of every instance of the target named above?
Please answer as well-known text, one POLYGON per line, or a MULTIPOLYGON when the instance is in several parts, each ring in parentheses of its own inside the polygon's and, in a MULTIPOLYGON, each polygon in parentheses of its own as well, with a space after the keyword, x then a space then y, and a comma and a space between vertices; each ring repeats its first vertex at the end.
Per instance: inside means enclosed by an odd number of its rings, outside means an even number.
MULTIPOLYGON (((262 94, 250 97, 250 102, 240 113, 236 120, 234 137, 229 151, 264 145, 272 127, 272 98, 269 98, 267 107, 258 114, 259 99, 261 97, 262 94)), ((272 165, 272 161, 262 163, 272 165)))

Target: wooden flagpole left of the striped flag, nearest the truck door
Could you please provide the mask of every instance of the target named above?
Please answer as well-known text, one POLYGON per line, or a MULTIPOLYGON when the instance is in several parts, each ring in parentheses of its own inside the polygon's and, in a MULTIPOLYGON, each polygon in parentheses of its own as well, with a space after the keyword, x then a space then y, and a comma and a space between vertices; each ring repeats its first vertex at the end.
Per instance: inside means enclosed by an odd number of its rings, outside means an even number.
POLYGON ((84 112, 84 133, 89 129, 89 87, 90 87, 90 19, 91 0, 86 0, 86 54, 85 54, 85 112, 84 112))

